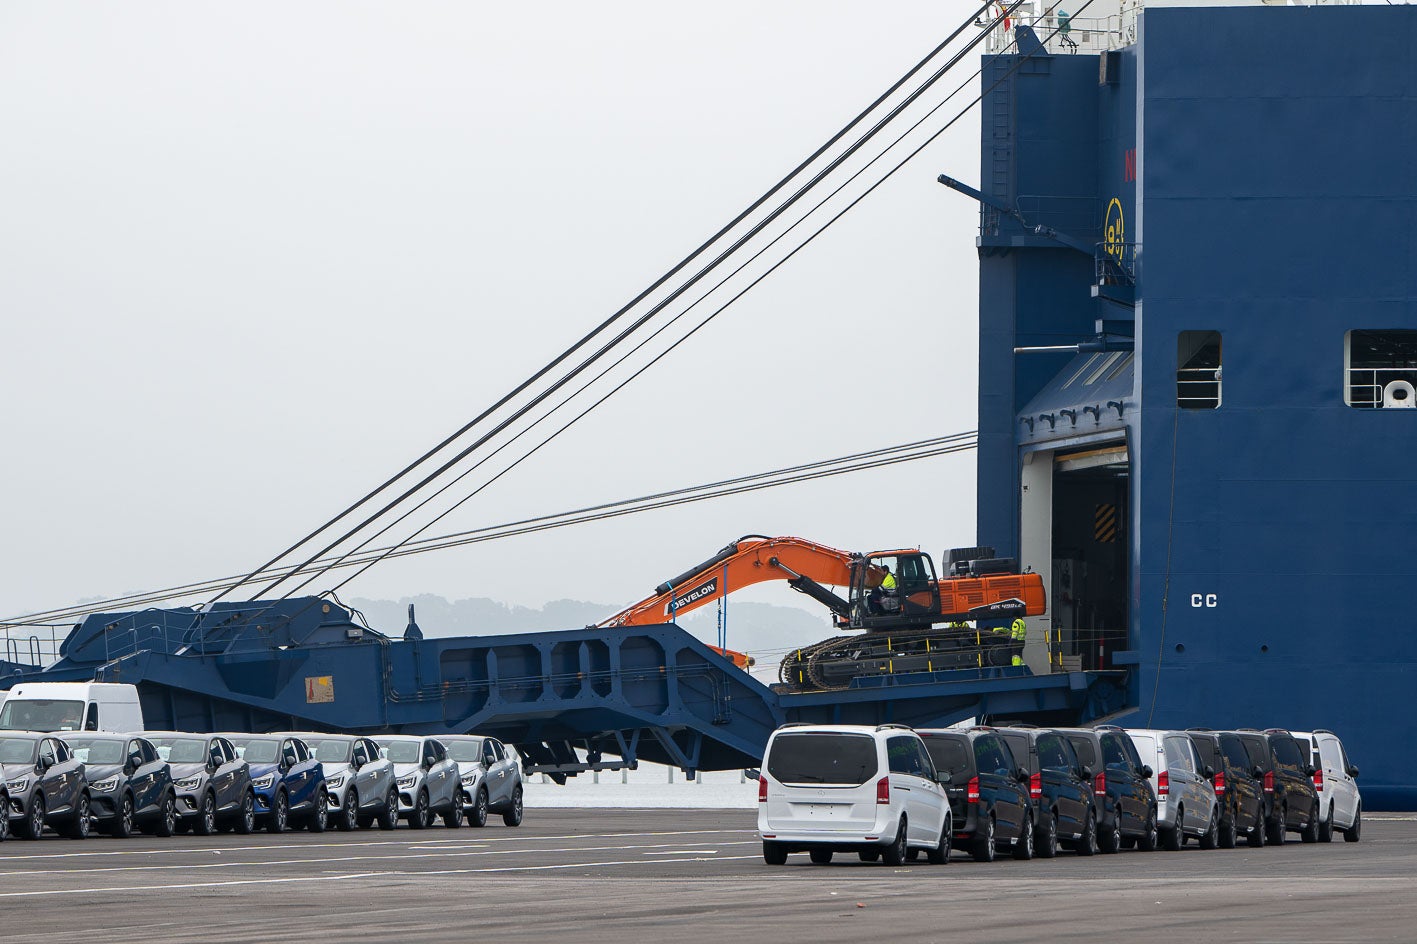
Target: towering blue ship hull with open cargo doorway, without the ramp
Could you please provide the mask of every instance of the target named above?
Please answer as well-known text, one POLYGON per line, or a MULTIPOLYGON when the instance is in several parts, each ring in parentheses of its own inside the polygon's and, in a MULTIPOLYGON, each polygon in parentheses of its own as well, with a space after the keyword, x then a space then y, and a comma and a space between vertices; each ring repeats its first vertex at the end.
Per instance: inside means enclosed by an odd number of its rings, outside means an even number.
POLYGON ((1417 9, 1093 14, 982 75, 979 540, 1118 723, 1333 729, 1411 809, 1417 9))

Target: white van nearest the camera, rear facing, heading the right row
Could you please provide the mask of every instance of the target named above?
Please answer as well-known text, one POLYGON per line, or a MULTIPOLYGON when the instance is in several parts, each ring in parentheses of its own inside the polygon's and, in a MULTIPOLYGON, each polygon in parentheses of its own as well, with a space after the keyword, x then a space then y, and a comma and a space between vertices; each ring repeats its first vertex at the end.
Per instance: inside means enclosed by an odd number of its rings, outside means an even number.
POLYGON ((862 862, 905 862, 924 850, 949 860, 948 777, 941 781, 925 743, 903 724, 785 724, 768 738, 758 778, 762 859, 782 865, 808 852, 862 862))

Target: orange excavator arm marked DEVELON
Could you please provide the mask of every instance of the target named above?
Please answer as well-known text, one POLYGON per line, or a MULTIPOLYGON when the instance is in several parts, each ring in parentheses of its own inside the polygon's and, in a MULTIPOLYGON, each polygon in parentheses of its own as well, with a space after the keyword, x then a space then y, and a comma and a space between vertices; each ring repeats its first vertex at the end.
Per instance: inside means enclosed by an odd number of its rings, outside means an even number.
POLYGON ((782 580, 845 619, 846 600, 829 587, 852 583, 847 551, 801 537, 747 534, 721 551, 672 580, 655 587, 655 594, 626 607, 601 626, 639 626, 674 619, 727 594, 767 580, 782 580))

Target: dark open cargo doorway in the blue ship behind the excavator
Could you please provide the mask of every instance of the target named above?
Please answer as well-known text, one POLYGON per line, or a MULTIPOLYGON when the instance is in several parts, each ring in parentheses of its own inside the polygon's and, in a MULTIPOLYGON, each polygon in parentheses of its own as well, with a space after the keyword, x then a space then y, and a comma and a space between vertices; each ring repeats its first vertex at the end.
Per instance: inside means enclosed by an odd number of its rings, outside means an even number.
POLYGON ((1128 452, 1125 442, 1053 455, 1049 609, 1054 659, 1110 669, 1127 648, 1128 452))

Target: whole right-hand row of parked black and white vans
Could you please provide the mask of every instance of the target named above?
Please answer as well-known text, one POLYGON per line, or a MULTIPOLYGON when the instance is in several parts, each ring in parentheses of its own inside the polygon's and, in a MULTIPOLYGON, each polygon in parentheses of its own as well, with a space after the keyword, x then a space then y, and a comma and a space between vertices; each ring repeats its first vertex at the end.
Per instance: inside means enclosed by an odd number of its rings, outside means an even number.
POLYGON ((1325 730, 788 724, 768 741, 758 829, 768 865, 1357 842, 1356 778, 1325 730))

